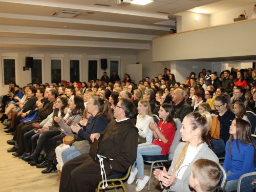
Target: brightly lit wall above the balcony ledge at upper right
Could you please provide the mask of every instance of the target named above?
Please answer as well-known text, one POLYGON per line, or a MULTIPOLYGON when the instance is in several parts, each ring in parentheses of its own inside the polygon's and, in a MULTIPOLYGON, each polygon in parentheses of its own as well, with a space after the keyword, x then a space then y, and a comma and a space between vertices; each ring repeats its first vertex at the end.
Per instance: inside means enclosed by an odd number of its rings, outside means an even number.
POLYGON ((251 18, 251 15, 254 13, 253 12, 254 5, 255 4, 211 14, 209 17, 209 26, 233 23, 234 22, 233 18, 237 18, 240 14, 243 14, 244 10, 246 12, 246 15, 248 15, 248 19, 249 19, 251 18))

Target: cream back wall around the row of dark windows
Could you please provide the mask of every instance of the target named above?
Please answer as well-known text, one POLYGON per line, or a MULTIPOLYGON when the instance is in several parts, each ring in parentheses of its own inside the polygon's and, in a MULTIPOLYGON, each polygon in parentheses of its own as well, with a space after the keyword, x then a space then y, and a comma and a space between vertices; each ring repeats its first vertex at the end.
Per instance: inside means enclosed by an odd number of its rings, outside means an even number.
MULTIPOLYGON (((108 59, 108 69, 106 72, 110 76, 109 58, 110 56, 120 56, 120 78, 125 73, 125 65, 136 63, 136 52, 135 51, 104 51, 104 50, 66 50, 66 49, 30 49, 30 48, 0 48, 0 55, 2 53, 17 53, 16 57, 16 83, 20 86, 26 86, 30 82, 30 70, 23 71, 25 66, 25 58, 30 53, 41 53, 44 54, 44 63, 42 63, 44 69, 44 82, 51 82, 51 62, 50 54, 63 54, 63 77, 62 79, 70 80, 70 65, 69 65, 69 54, 80 54, 82 56, 82 79, 81 81, 88 80, 88 58, 87 55, 98 55, 99 58, 108 59)), ((151 55, 152 58, 152 55, 151 55)), ((152 62, 152 59, 151 59, 152 62)), ((0 60, 0 67, 2 72, 2 59, 0 60)), ((102 69, 99 69, 99 78, 103 75, 102 69)), ((1 73, 2 74, 2 73, 1 73)), ((132 75, 131 75, 132 77, 132 75)), ((8 91, 7 88, 3 88, 2 78, 0 79, 0 93, 5 94, 8 91)))

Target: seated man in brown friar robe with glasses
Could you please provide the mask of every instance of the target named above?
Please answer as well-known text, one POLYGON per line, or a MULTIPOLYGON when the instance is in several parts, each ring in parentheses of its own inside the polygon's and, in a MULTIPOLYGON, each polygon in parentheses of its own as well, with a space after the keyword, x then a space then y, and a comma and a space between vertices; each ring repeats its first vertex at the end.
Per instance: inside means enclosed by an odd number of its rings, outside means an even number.
MULTIPOLYGON (((114 108, 116 120, 111 121, 104 132, 90 136, 92 142, 99 140, 97 154, 106 157, 102 158, 106 177, 125 172, 136 159, 138 129, 131 119, 134 114, 133 101, 120 98, 114 108)), ((98 157, 95 161, 90 154, 82 154, 64 164, 59 191, 95 191, 96 185, 102 180, 100 173, 98 157)))

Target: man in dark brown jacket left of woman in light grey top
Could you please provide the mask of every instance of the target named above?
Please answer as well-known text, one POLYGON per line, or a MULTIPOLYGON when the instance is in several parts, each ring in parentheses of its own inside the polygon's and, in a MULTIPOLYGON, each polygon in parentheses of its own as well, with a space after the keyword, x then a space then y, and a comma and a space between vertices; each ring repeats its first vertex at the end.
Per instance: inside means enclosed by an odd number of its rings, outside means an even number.
MULTIPOLYGON (((38 112, 37 112, 37 121, 44 120, 47 118, 48 115, 50 115, 53 112, 53 103, 56 101, 56 98, 58 97, 58 92, 54 89, 49 91, 49 103, 47 103, 44 108, 42 107, 44 103, 39 102, 37 104, 38 112)), ((25 151, 25 142, 24 142, 24 134, 33 130, 35 127, 33 124, 25 124, 25 123, 19 123, 15 134, 13 136, 12 140, 7 141, 10 145, 15 145, 11 150, 7 150, 8 152, 16 152, 12 155, 15 157, 18 157, 22 155, 25 151)))

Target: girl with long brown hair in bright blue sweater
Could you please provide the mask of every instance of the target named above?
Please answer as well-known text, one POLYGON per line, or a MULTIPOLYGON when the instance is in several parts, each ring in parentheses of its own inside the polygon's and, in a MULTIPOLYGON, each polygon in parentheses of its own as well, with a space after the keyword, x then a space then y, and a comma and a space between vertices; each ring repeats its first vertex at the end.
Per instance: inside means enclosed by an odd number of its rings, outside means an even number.
POLYGON ((251 140, 251 126, 243 119, 234 119, 226 142, 226 155, 223 167, 227 172, 228 191, 236 190, 243 174, 255 172, 256 147, 251 140))

